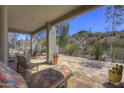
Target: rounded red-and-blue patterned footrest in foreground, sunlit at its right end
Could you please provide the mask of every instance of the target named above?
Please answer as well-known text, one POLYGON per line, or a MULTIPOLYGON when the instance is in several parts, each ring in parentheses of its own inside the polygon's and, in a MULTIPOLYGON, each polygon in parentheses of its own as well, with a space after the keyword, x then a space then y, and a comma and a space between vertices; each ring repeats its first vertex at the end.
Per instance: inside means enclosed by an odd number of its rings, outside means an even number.
POLYGON ((53 66, 28 75, 25 79, 29 88, 55 88, 65 85, 71 75, 66 66, 53 66))

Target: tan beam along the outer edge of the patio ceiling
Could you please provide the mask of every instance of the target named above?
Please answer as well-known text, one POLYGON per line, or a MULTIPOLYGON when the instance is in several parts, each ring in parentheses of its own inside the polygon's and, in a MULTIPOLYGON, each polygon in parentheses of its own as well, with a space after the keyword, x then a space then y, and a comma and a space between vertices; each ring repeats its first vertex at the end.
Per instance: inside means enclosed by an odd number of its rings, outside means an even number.
MULTIPOLYGON (((60 23, 60 22, 64 22, 64 21, 67 21, 71 18, 74 18, 76 16, 79 16, 81 14, 85 14, 87 12, 90 12, 96 8, 99 8, 101 6, 99 5, 82 5, 80 7, 78 7, 77 9, 75 10, 72 10, 71 12, 59 17, 58 19, 56 20, 53 20, 52 22, 49 22, 51 25, 55 25, 57 23, 60 23)), ((36 29, 35 31, 33 31, 32 33, 36 33, 36 32, 39 32, 40 30, 43 30, 46 28, 46 24, 38 29, 36 29)))

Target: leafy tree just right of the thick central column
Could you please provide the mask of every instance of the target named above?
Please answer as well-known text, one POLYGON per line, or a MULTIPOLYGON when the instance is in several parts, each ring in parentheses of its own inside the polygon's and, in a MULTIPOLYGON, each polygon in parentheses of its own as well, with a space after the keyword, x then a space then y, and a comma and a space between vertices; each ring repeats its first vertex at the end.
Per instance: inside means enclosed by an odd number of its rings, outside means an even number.
POLYGON ((68 42, 68 32, 69 32, 69 23, 60 23, 56 25, 56 32, 57 32, 57 43, 59 45, 59 50, 62 53, 64 48, 68 42))

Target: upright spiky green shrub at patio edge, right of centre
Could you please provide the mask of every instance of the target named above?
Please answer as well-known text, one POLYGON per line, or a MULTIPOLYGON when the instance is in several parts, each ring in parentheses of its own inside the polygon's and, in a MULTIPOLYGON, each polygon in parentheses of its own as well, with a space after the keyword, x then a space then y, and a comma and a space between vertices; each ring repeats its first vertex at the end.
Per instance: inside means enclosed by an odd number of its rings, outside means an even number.
POLYGON ((99 42, 94 43, 92 47, 92 53, 95 56, 95 59, 99 60, 100 56, 103 54, 103 47, 101 43, 99 42))

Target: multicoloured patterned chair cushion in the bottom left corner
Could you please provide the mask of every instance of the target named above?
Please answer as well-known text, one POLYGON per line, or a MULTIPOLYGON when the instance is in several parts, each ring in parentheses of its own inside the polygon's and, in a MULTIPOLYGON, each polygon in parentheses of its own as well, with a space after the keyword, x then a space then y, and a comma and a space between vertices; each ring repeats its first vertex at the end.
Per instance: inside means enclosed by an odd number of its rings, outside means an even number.
POLYGON ((0 62, 0 87, 25 88, 27 85, 18 73, 10 69, 4 63, 0 62))

